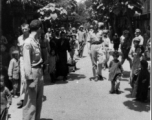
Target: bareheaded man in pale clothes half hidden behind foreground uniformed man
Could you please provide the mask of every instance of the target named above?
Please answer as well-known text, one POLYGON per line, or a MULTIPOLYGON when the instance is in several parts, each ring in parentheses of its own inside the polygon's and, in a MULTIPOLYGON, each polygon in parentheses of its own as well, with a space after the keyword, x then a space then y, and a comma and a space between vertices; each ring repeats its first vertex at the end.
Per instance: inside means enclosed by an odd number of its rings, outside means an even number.
POLYGON ((23 45, 24 45, 24 41, 26 38, 29 37, 29 25, 24 23, 21 25, 21 29, 22 29, 22 35, 18 37, 18 43, 17 45, 19 46, 19 50, 20 50, 20 101, 17 103, 18 107, 21 108, 23 106, 23 101, 24 101, 24 82, 25 82, 25 74, 24 74, 24 62, 23 62, 23 45))

